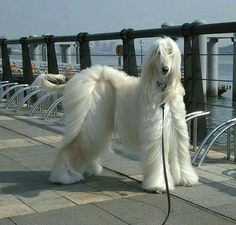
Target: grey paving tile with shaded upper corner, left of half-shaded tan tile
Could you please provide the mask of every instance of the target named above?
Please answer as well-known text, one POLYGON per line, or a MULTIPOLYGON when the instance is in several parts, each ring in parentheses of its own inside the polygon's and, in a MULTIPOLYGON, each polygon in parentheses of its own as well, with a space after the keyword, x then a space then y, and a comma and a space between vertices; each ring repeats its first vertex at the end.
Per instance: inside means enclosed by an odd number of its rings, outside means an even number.
POLYGON ((16 194, 22 202, 36 212, 65 208, 75 204, 51 190, 28 191, 16 194))

